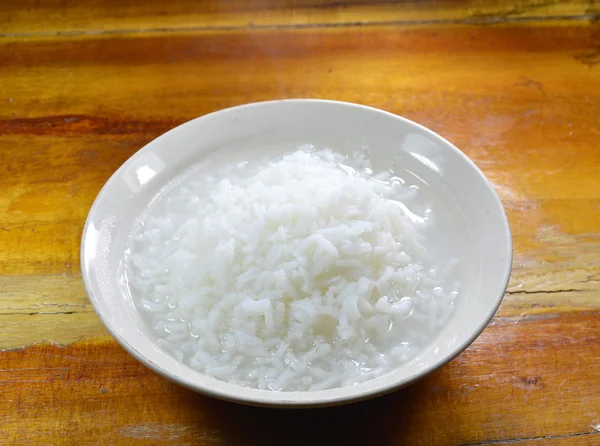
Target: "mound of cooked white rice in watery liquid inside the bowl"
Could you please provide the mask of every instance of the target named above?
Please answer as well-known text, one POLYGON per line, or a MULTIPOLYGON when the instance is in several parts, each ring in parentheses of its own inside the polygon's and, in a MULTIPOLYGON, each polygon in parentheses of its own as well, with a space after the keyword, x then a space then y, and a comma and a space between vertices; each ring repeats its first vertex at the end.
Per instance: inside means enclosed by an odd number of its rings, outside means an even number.
POLYGON ((216 379, 285 391, 372 379, 417 354, 458 292, 395 201, 407 192, 331 151, 195 175, 132 237, 132 294, 158 343, 216 379))

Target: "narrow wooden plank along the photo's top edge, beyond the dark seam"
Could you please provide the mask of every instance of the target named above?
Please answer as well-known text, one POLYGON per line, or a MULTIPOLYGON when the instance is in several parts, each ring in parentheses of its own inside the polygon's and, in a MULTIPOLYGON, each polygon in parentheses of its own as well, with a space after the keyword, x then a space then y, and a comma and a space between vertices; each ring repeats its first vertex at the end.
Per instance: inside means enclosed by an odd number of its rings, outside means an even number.
POLYGON ((365 23, 468 22, 549 17, 588 17, 596 11, 583 0, 472 0, 396 2, 389 0, 233 0, 227 2, 143 2, 140 0, 20 0, 4 2, 4 35, 136 32, 232 27, 323 26, 365 23))

